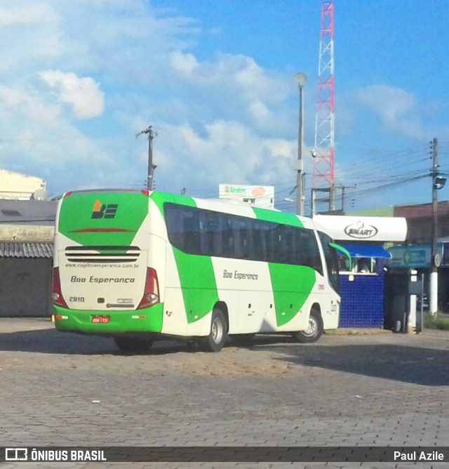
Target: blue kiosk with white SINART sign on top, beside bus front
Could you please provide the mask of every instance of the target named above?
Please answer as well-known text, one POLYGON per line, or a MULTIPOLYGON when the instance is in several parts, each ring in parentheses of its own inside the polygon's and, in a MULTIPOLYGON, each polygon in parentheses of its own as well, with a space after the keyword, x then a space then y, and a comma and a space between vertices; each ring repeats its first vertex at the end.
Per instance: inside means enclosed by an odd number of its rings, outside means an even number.
POLYGON ((384 326, 384 264, 391 254, 385 242, 403 242, 406 218, 315 215, 314 220, 349 251, 351 269, 340 265, 340 327, 384 326))

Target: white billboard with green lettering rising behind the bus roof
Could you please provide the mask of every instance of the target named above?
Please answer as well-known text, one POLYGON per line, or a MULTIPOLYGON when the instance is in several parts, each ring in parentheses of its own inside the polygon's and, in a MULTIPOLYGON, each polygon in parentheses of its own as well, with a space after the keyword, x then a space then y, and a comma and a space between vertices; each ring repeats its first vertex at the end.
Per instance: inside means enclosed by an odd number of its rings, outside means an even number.
POLYGON ((274 186, 272 185, 220 184, 218 197, 245 202, 261 209, 274 209, 274 186))

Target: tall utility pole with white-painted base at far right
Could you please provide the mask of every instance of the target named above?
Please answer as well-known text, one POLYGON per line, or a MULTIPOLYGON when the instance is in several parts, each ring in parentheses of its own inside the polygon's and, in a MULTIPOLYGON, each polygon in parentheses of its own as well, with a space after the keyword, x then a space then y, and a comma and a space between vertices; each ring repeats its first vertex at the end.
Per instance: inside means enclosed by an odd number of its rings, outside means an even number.
MULTIPOLYGON (((443 187, 438 185, 438 140, 434 138, 431 142, 432 149, 432 247, 431 247, 431 269, 429 282, 429 307, 432 315, 438 311, 438 267, 441 263, 438 254, 438 197, 436 191, 443 187)), ((444 184, 443 184, 444 185, 444 184)))

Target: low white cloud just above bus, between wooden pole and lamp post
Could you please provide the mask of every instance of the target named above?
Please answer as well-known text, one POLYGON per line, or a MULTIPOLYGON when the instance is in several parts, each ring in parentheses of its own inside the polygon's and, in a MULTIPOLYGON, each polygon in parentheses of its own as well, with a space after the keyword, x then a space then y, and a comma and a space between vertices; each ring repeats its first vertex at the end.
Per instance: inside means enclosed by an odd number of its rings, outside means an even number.
MULTIPOLYGON (((294 185, 295 143, 261 138, 236 121, 214 121, 201 136, 188 125, 167 128, 154 140, 154 149, 156 187, 163 190, 170 190, 169 183, 175 192, 186 187, 192 195, 217 197, 220 183, 294 185), (162 171, 171 171, 170 181, 162 171)), ((141 159, 145 164, 144 152, 141 159)))

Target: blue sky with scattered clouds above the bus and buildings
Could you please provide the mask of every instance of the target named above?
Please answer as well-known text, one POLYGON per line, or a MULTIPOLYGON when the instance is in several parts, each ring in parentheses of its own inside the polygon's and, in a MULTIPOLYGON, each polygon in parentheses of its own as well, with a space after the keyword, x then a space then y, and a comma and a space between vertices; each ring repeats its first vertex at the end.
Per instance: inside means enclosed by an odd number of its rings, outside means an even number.
MULTIPOLYGON (((347 209, 430 202, 434 137, 449 173, 447 4, 333 4, 335 184, 357 186, 347 209)), ((219 183, 274 185, 276 206, 293 211, 284 201, 295 197, 293 75, 308 77, 308 150, 321 5, 1 2, 0 167, 46 179, 50 194, 144 187, 148 145, 135 134, 152 125, 156 189, 217 197, 219 183)), ((307 213, 313 161, 304 155, 307 213)))

